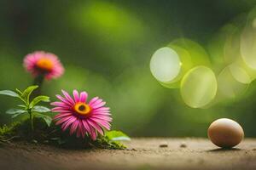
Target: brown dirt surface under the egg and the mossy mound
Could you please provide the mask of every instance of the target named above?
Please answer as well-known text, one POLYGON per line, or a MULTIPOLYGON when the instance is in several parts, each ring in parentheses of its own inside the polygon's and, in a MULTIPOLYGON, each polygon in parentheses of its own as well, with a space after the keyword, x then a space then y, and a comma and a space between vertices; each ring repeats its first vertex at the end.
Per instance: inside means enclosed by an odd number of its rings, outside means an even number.
POLYGON ((256 139, 220 150, 207 139, 132 139, 127 150, 63 150, 48 145, 0 147, 0 169, 256 169, 256 139))

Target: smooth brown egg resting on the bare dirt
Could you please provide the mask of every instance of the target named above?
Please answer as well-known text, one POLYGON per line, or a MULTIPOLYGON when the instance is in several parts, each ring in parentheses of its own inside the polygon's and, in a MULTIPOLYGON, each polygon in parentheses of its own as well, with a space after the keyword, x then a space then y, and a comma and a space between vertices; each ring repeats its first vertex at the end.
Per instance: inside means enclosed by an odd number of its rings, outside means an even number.
POLYGON ((222 118, 218 119, 208 128, 208 138, 213 144, 222 148, 232 148, 239 144, 244 137, 242 127, 237 122, 222 118))

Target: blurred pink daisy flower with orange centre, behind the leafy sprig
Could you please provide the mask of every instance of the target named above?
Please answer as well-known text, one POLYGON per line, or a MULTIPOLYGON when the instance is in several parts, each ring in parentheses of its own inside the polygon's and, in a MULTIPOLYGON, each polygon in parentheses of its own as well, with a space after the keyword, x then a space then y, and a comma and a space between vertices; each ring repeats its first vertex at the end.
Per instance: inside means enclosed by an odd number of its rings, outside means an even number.
POLYGON ((26 71, 31 72, 33 77, 43 75, 46 79, 61 77, 64 68, 55 54, 44 51, 36 51, 27 54, 24 59, 26 71))

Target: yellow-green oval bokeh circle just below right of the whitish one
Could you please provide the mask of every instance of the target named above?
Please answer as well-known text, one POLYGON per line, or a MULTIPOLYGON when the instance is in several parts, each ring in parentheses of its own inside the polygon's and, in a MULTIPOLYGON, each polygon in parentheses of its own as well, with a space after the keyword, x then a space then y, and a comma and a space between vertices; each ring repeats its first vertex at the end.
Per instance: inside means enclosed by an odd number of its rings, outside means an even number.
POLYGON ((192 108, 208 105, 217 94, 217 79, 214 72, 206 66, 196 66, 187 72, 181 82, 181 95, 184 102, 192 108))

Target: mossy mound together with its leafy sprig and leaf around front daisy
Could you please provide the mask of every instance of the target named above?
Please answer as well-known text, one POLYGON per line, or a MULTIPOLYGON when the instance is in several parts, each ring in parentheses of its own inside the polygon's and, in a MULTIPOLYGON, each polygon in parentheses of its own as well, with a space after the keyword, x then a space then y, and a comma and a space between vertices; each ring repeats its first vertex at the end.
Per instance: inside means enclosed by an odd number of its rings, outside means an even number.
POLYGON ((10 90, 0 91, 0 94, 19 98, 23 105, 18 105, 19 109, 10 109, 7 114, 13 118, 27 114, 29 119, 24 122, 14 123, 10 126, 0 128, 0 142, 9 142, 17 139, 34 143, 54 144, 56 146, 67 148, 104 148, 104 149, 125 149, 125 145, 120 140, 130 140, 130 138, 120 131, 110 131, 104 136, 99 136, 95 141, 90 136, 84 139, 70 136, 68 132, 62 132, 61 127, 53 125, 52 118, 42 113, 49 112, 49 108, 38 105, 39 102, 49 102, 48 96, 40 95, 30 99, 33 90, 38 86, 26 88, 23 92, 16 89, 16 92, 10 90), (34 127, 35 126, 35 127, 34 127))

